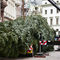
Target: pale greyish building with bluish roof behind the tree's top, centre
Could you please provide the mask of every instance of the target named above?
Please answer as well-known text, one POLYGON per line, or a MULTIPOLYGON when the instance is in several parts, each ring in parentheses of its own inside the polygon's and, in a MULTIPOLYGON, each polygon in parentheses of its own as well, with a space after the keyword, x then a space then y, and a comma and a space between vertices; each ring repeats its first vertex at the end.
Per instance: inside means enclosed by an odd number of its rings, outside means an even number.
MULTIPOLYGON (((38 0, 41 1, 41 0, 38 0)), ((28 15, 40 15, 40 4, 38 4, 37 0, 30 0, 30 8, 29 8, 29 12, 28 15)), ((39 2, 40 3, 40 2, 39 2)))

